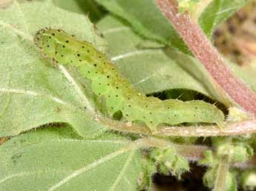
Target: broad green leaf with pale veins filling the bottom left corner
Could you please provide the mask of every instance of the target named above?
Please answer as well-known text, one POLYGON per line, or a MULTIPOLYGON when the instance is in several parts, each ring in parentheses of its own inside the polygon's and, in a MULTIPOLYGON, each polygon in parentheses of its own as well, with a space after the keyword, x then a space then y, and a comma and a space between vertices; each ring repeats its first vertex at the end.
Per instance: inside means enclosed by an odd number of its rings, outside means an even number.
POLYGON ((70 133, 37 130, 3 144, 0 190, 137 190, 142 160, 131 141, 86 140, 70 133))

